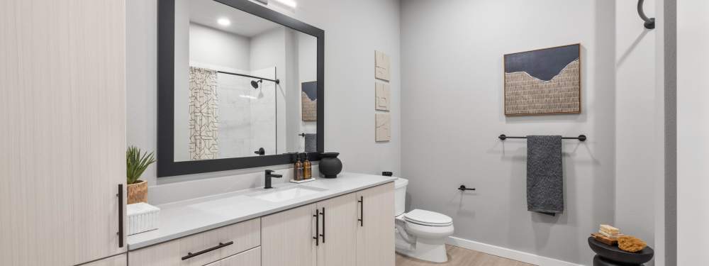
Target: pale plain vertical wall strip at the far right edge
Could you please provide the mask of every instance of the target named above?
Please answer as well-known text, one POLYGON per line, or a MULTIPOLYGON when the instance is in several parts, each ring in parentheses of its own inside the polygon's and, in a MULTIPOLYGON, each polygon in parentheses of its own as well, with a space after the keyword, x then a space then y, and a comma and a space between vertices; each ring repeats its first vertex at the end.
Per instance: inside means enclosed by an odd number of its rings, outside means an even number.
POLYGON ((677 265, 709 265, 709 1, 676 5, 677 265))

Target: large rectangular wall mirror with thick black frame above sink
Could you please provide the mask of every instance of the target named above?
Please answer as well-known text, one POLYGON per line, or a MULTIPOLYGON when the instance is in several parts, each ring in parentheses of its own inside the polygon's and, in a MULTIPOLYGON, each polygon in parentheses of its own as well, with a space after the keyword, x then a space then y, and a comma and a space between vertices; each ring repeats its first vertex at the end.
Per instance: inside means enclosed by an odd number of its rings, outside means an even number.
POLYGON ((158 12, 158 177, 318 160, 323 30, 248 0, 158 12))

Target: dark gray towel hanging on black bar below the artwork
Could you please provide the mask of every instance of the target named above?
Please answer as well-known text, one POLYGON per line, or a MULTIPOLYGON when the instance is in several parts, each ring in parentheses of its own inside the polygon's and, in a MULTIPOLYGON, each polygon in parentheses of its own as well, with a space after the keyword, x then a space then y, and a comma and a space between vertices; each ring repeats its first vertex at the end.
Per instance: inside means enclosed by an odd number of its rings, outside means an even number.
POLYGON ((560 135, 527 135, 527 210, 552 216, 564 211, 560 135))

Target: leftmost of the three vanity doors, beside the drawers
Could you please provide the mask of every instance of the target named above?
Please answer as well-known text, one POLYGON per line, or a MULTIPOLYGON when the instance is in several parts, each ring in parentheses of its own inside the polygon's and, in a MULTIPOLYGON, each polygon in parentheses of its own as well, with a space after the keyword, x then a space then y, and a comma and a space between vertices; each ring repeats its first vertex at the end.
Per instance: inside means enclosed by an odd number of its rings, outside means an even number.
POLYGON ((261 218, 263 266, 315 266, 316 204, 261 218))

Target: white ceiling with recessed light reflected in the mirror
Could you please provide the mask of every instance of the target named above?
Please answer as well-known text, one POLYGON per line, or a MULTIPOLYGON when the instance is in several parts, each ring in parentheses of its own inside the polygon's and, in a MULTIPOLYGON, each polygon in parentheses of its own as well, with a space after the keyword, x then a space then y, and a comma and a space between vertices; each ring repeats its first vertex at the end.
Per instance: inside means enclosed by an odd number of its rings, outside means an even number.
POLYGON ((189 0, 189 21, 249 38, 274 28, 283 27, 278 23, 259 18, 213 0, 189 0), (231 25, 219 25, 217 23, 219 18, 228 18, 231 21, 231 25))

